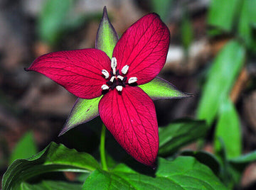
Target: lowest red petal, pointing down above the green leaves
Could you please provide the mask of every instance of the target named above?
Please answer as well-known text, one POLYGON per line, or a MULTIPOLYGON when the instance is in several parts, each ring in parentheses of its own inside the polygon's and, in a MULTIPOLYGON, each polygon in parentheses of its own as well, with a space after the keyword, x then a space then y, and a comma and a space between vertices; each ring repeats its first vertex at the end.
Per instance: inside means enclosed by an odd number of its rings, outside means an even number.
POLYGON ((158 125, 153 101, 139 87, 126 86, 102 97, 99 113, 124 150, 143 164, 154 166, 159 150, 158 125))

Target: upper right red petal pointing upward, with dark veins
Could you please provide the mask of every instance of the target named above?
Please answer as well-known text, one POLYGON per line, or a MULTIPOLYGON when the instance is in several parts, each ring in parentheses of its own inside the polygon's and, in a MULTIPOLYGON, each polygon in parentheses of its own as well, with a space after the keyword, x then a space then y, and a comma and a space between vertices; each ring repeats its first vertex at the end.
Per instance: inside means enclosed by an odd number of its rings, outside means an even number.
POLYGON ((114 47, 117 69, 129 65, 127 77, 137 77, 137 84, 151 81, 159 74, 169 49, 170 33, 155 13, 139 19, 122 35, 114 47))

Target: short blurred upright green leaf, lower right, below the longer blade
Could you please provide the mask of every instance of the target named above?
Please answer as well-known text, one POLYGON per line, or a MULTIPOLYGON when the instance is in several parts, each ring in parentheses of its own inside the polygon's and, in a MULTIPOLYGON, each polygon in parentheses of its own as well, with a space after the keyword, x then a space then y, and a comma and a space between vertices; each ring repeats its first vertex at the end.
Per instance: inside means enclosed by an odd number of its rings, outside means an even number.
POLYGON ((218 123, 215 129, 215 151, 219 152, 221 149, 218 140, 221 138, 225 146, 226 157, 228 159, 238 157, 242 152, 240 119, 230 99, 224 99, 220 105, 218 115, 218 123))

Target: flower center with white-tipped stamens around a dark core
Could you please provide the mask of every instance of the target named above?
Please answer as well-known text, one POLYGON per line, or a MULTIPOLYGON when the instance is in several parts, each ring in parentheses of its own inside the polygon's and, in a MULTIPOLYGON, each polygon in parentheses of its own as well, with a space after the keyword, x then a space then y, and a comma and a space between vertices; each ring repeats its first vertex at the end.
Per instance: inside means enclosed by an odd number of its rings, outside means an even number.
POLYGON ((130 86, 137 84, 137 77, 129 77, 127 80, 127 77, 125 76, 128 73, 129 65, 124 65, 120 73, 119 69, 117 69, 117 59, 112 57, 111 68, 112 71, 110 71, 110 73, 107 72, 107 70, 102 69, 102 76, 105 77, 105 79, 109 79, 106 84, 101 86, 102 94, 106 94, 110 89, 117 89, 117 91, 121 93, 126 84, 130 86))

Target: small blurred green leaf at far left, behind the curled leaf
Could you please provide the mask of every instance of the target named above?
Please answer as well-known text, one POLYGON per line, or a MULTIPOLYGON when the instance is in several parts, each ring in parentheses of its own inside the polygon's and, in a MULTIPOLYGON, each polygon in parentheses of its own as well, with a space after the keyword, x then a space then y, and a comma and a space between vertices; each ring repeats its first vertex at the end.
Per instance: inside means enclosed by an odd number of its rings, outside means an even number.
POLYGON ((14 162, 16 159, 27 158, 35 155, 37 152, 37 147, 33 139, 33 133, 26 133, 23 138, 17 143, 14 151, 11 154, 9 164, 14 162))

